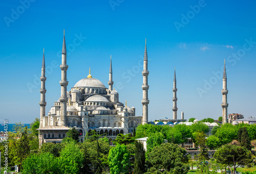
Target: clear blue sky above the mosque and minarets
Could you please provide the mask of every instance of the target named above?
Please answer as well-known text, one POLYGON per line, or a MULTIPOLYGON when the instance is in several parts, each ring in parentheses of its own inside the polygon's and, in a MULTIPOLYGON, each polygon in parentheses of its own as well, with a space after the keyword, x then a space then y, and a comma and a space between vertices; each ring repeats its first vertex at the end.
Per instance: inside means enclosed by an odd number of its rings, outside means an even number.
POLYGON ((222 116, 227 67, 228 113, 255 116, 255 1, 35 1, 0 2, 0 122, 30 123, 40 114, 42 52, 46 113, 60 96, 60 51, 67 44, 68 90, 86 78, 108 87, 112 55, 119 100, 142 116, 142 59, 148 54, 149 120, 222 116))

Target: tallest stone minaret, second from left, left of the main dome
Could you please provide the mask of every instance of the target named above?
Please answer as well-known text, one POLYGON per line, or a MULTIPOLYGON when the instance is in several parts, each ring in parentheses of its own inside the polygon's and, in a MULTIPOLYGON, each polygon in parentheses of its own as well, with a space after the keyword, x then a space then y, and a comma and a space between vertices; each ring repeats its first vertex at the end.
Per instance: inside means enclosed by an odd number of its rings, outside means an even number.
POLYGON ((62 44, 62 57, 61 57, 61 81, 59 81, 59 84, 61 86, 61 94, 59 97, 59 101, 61 103, 60 105, 60 125, 67 126, 67 86, 69 82, 67 81, 67 51, 66 51, 66 41, 65 41, 65 30, 63 35, 63 44, 62 44))

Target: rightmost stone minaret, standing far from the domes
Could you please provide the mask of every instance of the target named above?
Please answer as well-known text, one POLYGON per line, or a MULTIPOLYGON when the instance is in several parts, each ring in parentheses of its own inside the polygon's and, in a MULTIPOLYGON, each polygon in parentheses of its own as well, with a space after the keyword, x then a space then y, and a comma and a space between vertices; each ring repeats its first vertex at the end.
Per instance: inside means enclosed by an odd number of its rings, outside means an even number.
POLYGON ((221 90, 222 93, 222 123, 227 123, 227 74, 226 74, 226 65, 225 65, 225 59, 224 59, 224 71, 223 71, 223 89, 221 90))

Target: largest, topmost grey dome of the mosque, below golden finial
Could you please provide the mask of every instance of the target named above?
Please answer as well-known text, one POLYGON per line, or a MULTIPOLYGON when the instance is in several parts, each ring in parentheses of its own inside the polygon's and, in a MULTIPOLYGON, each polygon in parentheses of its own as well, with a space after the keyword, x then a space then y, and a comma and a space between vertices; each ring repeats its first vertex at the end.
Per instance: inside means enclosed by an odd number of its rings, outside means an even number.
POLYGON ((74 87, 98 87, 105 88, 102 82, 94 78, 84 78, 79 80, 74 87))

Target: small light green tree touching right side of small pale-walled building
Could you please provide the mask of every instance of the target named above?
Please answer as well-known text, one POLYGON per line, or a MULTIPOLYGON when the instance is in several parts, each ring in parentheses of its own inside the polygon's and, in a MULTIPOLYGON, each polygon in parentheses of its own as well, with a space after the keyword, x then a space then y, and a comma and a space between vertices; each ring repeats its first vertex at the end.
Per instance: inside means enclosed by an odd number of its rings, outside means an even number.
POLYGON ((150 152, 155 146, 158 146, 164 142, 164 136, 161 132, 156 132, 147 137, 146 151, 150 152))

